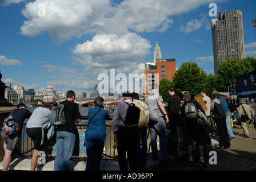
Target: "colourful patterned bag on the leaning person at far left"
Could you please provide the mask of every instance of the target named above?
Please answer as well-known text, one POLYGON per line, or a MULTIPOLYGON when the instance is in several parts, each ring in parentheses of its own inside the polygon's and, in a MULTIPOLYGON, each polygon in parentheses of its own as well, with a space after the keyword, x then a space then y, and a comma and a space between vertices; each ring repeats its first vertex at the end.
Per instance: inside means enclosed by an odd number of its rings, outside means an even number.
POLYGON ((5 131, 5 134, 8 136, 18 133, 19 131, 19 125, 13 118, 14 111, 3 121, 3 131, 5 131))

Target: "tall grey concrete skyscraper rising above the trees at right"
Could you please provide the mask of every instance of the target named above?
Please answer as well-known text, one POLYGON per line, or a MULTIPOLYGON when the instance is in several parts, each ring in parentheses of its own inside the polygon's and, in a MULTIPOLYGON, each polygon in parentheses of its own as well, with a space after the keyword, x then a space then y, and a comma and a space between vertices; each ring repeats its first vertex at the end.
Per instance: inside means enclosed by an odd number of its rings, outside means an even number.
POLYGON ((230 10, 219 13, 217 19, 211 20, 213 36, 214 73, 217 75, 219 65, 231 57, 245 58, 242 12, 230 10))

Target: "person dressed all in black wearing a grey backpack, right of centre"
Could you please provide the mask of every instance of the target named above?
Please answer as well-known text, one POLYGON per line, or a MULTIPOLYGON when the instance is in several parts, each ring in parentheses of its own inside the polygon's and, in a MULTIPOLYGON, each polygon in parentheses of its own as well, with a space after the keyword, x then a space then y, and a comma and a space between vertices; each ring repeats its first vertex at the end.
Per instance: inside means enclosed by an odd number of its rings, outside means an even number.
MULTIPOLYGON (((181 109, 181 119, 182 123, 185 126, 185 135, 186 135, 186 144, 187 149, 189 150, 189 165, 193 166, 193 144, 194 141, 197 144, 199 155, 200 155, 200 168, 205 168, 205 162, 204 162, 204 144, 205 144, 205 130, 198 126, 197 118, 187 119, 185 114, 185 107, 187 104, 193 102, 191 101, 191 94, 189 92, 185 92, 184 95, 185 103, 182 106, 181 109)), ((202 111, 203 114, 205 114, 205 111, 203 111, 202 107, 198 104, 198 102, 194 101, 193 104, 195 107, 197 107, 197 110, 202 111)))

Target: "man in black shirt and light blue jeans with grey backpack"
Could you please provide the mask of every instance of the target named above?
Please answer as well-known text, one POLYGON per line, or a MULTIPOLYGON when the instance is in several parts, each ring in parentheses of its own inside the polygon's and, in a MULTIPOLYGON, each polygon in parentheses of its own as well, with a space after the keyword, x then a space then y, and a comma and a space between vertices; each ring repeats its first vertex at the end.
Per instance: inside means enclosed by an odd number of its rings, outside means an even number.
POLYGON ((54 160, 54 171, 72 170, 75 134, 77 133, 75 123, 81 121, 81 114, 74 100, 75 93, 72 90, 67 91, 67 100, 63 102, 66 122, 57 128, 57 154, 54 160))

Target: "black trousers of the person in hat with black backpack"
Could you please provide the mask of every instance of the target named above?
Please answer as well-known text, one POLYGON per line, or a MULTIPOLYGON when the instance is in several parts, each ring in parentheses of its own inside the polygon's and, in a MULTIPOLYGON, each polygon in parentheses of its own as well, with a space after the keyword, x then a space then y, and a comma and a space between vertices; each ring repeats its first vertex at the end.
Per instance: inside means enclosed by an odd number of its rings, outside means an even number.
POLYGON ((120 171, 128 171, 126 152, 130 171, 137 171, 138 127, 119 126, 117 141, 120 171))

